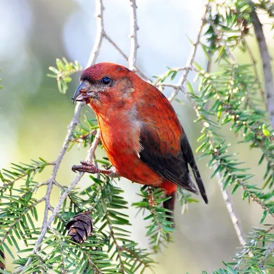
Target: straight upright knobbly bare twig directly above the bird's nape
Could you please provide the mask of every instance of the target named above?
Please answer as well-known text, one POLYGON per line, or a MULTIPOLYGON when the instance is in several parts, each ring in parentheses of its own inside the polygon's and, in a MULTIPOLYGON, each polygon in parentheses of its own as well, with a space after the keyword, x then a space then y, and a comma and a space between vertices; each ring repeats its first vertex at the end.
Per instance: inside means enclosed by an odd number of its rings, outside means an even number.
POLYGON ((137 41, 137 16, 136 16, 136 0, 129 0, 130 1, 130 53, 129 53, 129 69, 135 71, 136 69, 136 57, 137 57, 137 50, 138 50, 138 41, 137 41))

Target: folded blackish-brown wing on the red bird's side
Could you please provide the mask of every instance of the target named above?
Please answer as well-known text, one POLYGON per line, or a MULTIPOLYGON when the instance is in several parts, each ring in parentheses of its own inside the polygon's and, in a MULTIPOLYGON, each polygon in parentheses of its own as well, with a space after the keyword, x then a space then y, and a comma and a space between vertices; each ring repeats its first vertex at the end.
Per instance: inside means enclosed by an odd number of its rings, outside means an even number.
MULTIPOLYGON (((140 145, 142 145, 143 149, 139 153, 140 159, 153 169, 153 171, 157 172, 165 179, 168 179, 170 182, 173 182, 186 190, 197 193, 197 189, 192 183, 188 171, 188 159, 191 159, 186 158, 186 155, 184 155, 185 152, 191 152, 190 145, 188 144, 187 139, 184 140, 184 137, 182 139, 183 147, 188 145, 186 148, 187 150, 179 149, 177 153, 164 151, 166 150, 164 147, 169 144, 166 144, 164 140, 161 140, 158 133, 152 127, 147 124, 142 124, 140 145), (162 145, 163 143, 164 145, 162 145)), ((179 142, 179 140, 177 142, 179 142)))

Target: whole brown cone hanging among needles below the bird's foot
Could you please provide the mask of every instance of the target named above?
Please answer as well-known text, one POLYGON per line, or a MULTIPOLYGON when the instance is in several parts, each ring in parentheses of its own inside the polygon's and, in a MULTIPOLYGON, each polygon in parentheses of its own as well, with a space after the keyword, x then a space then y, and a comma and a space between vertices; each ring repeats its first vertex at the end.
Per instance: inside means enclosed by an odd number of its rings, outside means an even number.
POLYGON ((69 236, 71 236, 73 242, 82 244, 93 230, 92 219, 89 212, 74 216, 69 223, 66 224, 66 229, 69 230, 69 236))

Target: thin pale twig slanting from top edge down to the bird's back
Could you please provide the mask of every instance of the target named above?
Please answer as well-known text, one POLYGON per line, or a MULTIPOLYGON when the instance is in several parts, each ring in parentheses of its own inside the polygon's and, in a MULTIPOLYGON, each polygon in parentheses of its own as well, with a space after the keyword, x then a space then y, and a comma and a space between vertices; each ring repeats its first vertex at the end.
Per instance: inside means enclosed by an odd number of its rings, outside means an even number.
POLYGON ((188 63, 186 64, 186 70, 184 70, 184 74, 182 75, 181 79, 179 79, 179 84, 177 84, 177 86, 179 86, 180 88, 175 88, 174 89, 174 91, 171 93, 171 96, 169 97, 169 101, 173 101, 173 99, 177 96, 177 94, 178 94, 179 90, 181 89, 181 87, 184 86, 184 83, 186 82, 186 78, 188 77, 188 73, 190 72, 190 70, 192 68, 192 64, 195 60, 197 49, 198 49, 198 46, 199 46, 199 43, 200 43, 201 32, 203 31, 203 26, 206 23, 206 14, 208 13, 208 7, 209 7, 209 2, 206 4, 205 12, 203 14, 203 17, 201 18, 201 25, 200 25, 199 33, 198 33, 198 36, 197 36, 197 40, 193 44, 192 53, 190 55, 188 63))

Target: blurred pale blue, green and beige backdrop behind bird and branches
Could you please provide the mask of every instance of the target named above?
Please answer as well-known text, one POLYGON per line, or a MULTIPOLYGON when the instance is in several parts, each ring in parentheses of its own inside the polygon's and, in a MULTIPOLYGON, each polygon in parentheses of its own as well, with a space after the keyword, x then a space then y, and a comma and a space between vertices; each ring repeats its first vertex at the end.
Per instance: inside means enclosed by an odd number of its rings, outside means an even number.
MULTIPOLYGON (((185 66, 191 45, 188 37, 196 39, 205 2, 202 0, 139 0, 138 4, 138 67, 149 77, 160 75, 169 67, 185 66)), ((79 84, 79 75, 73 77, 69 92, 61 95, 55 79, 47 77, 49 66, 55 66, 55 59, 65 57, 78 60, 86 66, 96 34, 95 1, 92 0, 0 0, 0 168, 10 168, 11 162, 29 162, 29 159, 57 158, 66 136, 67 125, 73 116, 71 97, 79 84)), ((104 24, 108 35, 129 53, 129 1, 105 0, 104 24)), ((267 18, 262 17, 262 23, 267 18)), ((273 33, 266 25, 264 29, 273 53, 273 33)), ((260 60, 256 40, 249 40, 251 49, 260 60)), ((247 56, 236 53, 240 62, 247 62, 247 56)), ((202 51, 197 53, 197 62, 206 64, 202 51)), ((116 62, 127 66, 121 55, 104 40, 97 62, 116 62)), ((216 68, 214 68, 216 69, 216 68)), ((261 69, 260 69, 261 71, 261 69)), ((190 81, 193 75, 190 74, 190 81)), ((169 96, 171 90, 164 90, 169 96)), ((188 134, 192 149, 198 147, 197 138, 201 127, 193 123, 195 112, 179 95, 182 105, 173 102, 182 125, 188 134)), ((84 107, 83 114, 92 117, 92 111, 84 107)), ((232 132, 223 132, 232 142, 231 151, 239 153, 238 158, 251 168, 256 177, 253 184, 262 184, 265 166, 258 166, 256 149, 248 145, 237 145, 232 132)), ((71 171, 73 164, 86 158, 85 149, 73 147, 66 154, 58 173, 58 182, 69 185, 75 178, 71 171)), ((103 152, 99 152, 103 155, 103 152)), ((198 156, 198 155, 196 155, 198 156)), ((213 271, 222 266, 222 260, 231 261, 240 246, 234 227, 225 208, 216 179, 210 179, 212 171, 206 166, 206 159, 199 160, 203 181, 206 184, 209 204, 192 204, 188 212, 181 214, 179 203, 175 210, 177 223, 174 242, 155 254, 158 262, 155 273, 201 273, 213 271)), ((51 169, 51 168, 49 168, 51 169)), ((42 173, 41 182, 48 179, 51 170, 42 173)), ((88 175, 78 185, 84 188, 90 184, 88 175)), ((140 186, 125 179, 119 182, 125 189, 125 198, 131 204, 138 201, 136 195, 140 186)), ((59 193, 55 193, 55 201, 59 193)), ((258 225, 261 210, 255 203, 240 201, 240 190, 234 195, 234 203, 242 221, 245 234, 252 225, 258 225)), ((54 203, 54 202, 53 202, 54 203)), ((40 208, 42 215, 44 208, 40 208)), ((134 240, 147 247, 145 226, 142 216, 136 217, 136 210, 129 208, 134 240)), ((7 269, 12 270, 10 258, 7 269)), ((147 271, 146 273, 151 273, 147 271)))

